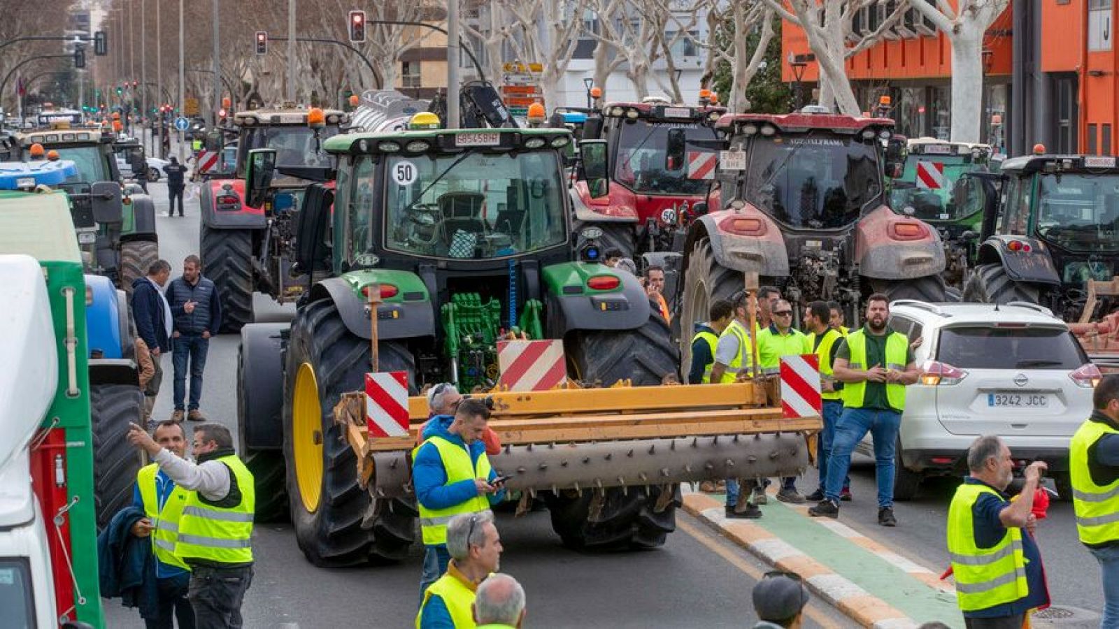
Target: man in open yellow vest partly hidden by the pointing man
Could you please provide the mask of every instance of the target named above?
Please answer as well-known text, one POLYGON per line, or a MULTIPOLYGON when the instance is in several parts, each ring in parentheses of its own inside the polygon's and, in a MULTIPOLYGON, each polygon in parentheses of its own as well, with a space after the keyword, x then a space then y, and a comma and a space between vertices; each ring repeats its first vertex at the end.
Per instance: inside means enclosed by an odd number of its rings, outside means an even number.
MULTIPOLYGON (((156 442, 182 458, 187 452, 187 433, 181 423, 160 422, 156 426, 156 442)), ((178 620, 179 629, 192 629, 195 611, 187 600, 190 584, 190 569, 175 556, 175 542, 179 536, 179 516, 187 501, 187 490, 175 485, 159 466, 151 463, 137 472, 133 506, 144 513, 144 517, 132 525, 132 535, 151 538, 151 550, 156 555, 156 613, 145 618, 150 629, 172 627, 178 620)))

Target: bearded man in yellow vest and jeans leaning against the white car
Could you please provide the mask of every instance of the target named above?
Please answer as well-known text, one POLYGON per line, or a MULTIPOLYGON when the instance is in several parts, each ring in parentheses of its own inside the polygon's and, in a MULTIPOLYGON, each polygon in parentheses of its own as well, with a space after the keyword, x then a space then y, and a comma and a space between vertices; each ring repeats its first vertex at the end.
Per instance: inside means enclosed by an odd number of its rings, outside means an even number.
POLYGON ((874 440, 878 484, 878 524, 896 526, 894 517, 894 450, 905 409, 905 387, 919 376, 905 335, 888 325, 890 298, 866 300, 866 323, 847 335, 836 351, 833 376, 844 383, 844 411, 836 423, 824 500, 808 509, 815 517, 839 517, 839 491, 850 468, 850 453, 867 432, 874 440))

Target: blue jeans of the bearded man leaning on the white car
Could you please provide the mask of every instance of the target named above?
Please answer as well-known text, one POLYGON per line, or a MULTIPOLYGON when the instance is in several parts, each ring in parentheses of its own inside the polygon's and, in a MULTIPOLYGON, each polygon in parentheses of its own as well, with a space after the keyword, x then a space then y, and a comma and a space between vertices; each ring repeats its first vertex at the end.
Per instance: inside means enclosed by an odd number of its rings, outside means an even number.
POLYGON ((894 450, 897 445, 897 429, 902 424, 901 413, 877 409, 844 409, 836 422, 835 441, 828 459, 827 484, 824 495, 828 500, 839 501, 843 479, 850 469, 850 453, 855 445, 871 433, 874 440, 874 478, 878 484, 878 507, 894 506, 894 450))

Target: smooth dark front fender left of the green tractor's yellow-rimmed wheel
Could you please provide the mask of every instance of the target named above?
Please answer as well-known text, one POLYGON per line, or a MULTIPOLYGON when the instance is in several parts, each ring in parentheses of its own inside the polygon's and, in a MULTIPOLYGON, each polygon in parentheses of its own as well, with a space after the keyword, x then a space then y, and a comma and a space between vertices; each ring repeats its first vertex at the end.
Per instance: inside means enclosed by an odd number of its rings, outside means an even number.
POLYGON ((283 448, 283 345, 288 323, 248 323, 237 349, 241 450, 283 448))

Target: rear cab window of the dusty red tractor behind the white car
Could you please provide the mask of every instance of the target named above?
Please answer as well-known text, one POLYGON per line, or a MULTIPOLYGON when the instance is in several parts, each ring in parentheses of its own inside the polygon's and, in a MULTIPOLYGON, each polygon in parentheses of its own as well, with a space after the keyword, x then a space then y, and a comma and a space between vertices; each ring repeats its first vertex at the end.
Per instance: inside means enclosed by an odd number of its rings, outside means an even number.
POLYGON ((849 135, 756 138, 746 199, 793 228, 837 229, 882 196, 877 148, 849 135))

